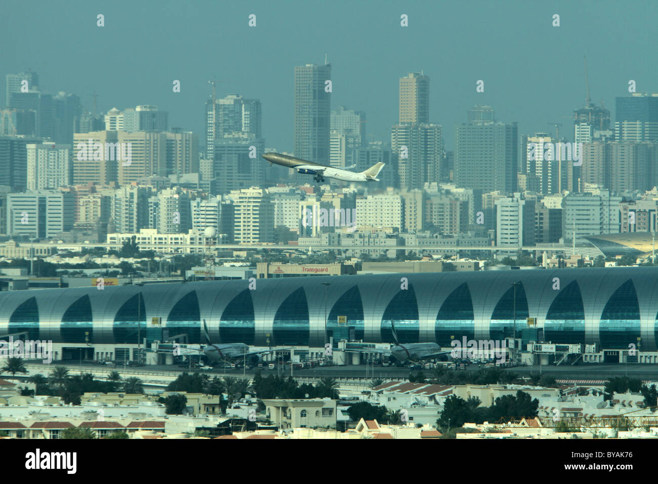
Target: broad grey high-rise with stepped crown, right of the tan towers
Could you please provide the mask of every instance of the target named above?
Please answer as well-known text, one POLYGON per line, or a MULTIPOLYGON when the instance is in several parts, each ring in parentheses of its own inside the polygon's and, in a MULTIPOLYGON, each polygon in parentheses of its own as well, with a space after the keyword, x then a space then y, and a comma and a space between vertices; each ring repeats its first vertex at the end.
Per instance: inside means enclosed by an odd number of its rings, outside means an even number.
POLYGON ((455 184, 484 191, 517 190, 519 139, 517 123, 494 121, 488 106, 468 113, 470 121, 455 128, 455 184))

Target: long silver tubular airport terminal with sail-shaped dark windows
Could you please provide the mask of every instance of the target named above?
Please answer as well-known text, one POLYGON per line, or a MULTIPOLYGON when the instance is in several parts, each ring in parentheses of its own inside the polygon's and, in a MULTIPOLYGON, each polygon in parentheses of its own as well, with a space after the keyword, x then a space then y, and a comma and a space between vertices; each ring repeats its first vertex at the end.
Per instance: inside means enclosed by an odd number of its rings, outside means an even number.
MULTIPOLYGON (((55 359, 121 360, 138 340, 323 348, 330 338, 596 344, 657 351, 658 269, 534 269, 290 277, 14 290, 0 293, 0 339, 52 340, 55 359), (530 321, 528 321, 530 318, 530 321), (533 320, 534 318, 534 320, 533 320), (528 322, 535 323, 532 326, 528 322), (638 339, 640 338, 640 339, 638 339), (524 341, 525 342, 525 341, 524 341), (82 349, 81 349, 82 348, 82 349), (123 356, 122 356, 123 355, 123 356)), ((130 355, 130 354, 128 354, 130 355)), ((648 360, 645 360, 648 361, 648 360)))

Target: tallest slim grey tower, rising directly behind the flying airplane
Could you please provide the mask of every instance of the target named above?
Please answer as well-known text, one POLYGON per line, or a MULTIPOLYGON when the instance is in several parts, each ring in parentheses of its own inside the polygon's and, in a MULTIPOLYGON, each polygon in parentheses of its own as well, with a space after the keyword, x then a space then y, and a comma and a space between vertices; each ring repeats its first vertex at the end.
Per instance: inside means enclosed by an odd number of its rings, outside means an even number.
MULTIPOLYGON (((329 165, 331 65, 295 67, 295 157, 329 165)), ((295 172, 295 179, 301 176, 295 172)))

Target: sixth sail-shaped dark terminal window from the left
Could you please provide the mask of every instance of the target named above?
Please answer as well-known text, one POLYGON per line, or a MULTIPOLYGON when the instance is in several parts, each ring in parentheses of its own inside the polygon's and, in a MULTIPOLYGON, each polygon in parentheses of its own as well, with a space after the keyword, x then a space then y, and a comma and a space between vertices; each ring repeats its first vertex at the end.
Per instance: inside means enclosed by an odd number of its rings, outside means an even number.
POLYGON ((300 287, 281 303, 274 315, 272 336, 275 345, 309 344, 309 304, 300 287))

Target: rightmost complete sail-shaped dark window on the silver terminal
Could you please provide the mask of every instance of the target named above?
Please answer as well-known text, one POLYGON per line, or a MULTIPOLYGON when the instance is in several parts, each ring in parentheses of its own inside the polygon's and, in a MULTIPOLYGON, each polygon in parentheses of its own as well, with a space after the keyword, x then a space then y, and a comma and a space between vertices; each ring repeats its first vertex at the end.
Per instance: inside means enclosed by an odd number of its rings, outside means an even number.
POLYGON ((633 281, 626 281, 611 296, 601 314, 599 336, 603 348, 628 349, 640 337, 640 305, 633 281))

